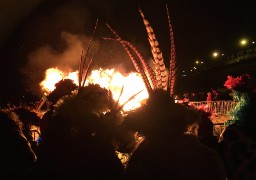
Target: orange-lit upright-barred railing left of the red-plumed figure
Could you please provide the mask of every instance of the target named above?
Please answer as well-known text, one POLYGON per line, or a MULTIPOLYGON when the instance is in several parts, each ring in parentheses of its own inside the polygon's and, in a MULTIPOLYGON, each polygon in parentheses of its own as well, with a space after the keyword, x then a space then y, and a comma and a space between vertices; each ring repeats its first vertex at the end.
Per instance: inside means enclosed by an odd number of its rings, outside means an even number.
POLYGON ((214 114, 229 115, 229 112, 238 104, 237 101, 192 101, 195 106, 205 106, 207 111, 214 114))

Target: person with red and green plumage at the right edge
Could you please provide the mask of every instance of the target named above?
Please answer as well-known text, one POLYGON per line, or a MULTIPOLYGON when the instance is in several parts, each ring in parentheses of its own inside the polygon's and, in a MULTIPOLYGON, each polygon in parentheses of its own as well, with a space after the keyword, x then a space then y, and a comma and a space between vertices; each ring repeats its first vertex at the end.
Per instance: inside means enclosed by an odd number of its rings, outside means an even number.
POLYGON ((219 141, 228 179, 256 179, 256 79, 249 74, 228 76, 224 86, 238 101, 219 141))

